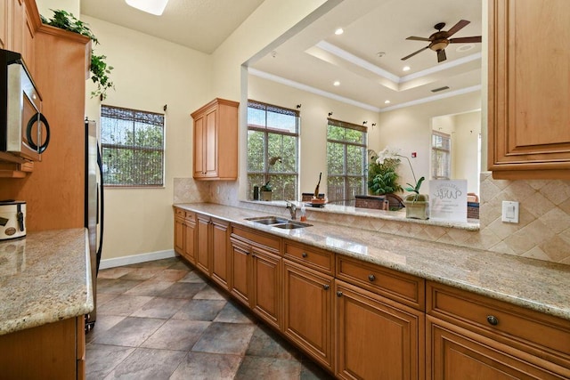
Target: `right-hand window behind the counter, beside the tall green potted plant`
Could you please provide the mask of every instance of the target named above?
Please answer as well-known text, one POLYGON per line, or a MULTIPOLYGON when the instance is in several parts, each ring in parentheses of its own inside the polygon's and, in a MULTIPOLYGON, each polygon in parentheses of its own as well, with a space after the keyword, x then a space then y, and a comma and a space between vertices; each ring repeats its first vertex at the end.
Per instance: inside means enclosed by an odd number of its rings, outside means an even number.
POLYGON ((327 197, 350 204, 366 194, 366 127, 329 119, 327 126, 327 197))

